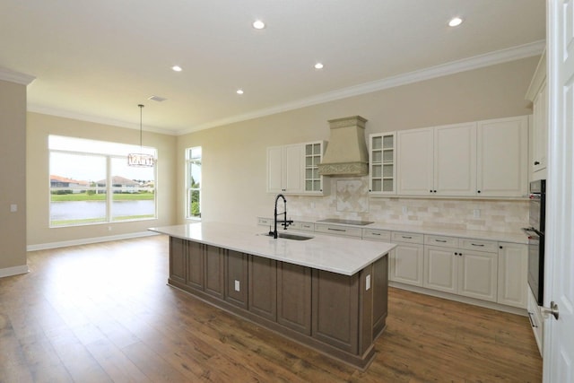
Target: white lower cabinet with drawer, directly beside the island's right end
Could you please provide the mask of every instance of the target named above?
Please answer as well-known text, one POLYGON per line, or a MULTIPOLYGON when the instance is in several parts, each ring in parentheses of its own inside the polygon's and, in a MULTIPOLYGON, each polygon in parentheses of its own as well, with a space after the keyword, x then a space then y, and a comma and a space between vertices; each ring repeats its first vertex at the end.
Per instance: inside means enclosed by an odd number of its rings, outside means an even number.
POLYGON ((423 235, 393 231, 391 243, 395 243, 396 248, 390 253, 388 279, 393 282, 422 286, 423 235))

